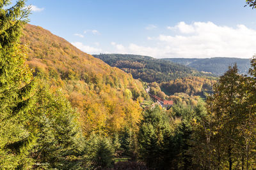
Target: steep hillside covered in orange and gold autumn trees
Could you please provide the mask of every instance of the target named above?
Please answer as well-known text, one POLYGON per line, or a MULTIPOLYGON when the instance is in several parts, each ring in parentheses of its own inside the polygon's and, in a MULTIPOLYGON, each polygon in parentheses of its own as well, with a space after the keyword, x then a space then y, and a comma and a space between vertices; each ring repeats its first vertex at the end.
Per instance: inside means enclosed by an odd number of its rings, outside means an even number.
POLYGON ((140 81, 42 27, 26 25, 23 34, 29 67, 48 81, 52 90, 61 89, 77 108, 84 134, 112 134, 136 125, 141 117, 140 102, 148 97, 140 81))

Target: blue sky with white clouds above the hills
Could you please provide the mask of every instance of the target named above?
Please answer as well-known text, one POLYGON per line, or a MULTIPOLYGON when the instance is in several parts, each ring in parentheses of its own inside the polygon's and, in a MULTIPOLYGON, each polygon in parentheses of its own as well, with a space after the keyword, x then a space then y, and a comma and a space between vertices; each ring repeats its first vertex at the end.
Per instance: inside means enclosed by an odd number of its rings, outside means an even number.
POLYGON ((251 58, 256 10, 246 0, 28 0, 39 25, 90 54, 251 58))

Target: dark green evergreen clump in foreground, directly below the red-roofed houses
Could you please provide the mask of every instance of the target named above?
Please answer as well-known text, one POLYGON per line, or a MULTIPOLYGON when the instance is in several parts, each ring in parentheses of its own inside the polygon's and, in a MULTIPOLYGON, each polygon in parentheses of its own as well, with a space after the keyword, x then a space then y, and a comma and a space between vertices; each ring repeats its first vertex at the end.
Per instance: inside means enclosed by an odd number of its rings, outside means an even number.
POLYGON ((159 106, 147 110, 143 115, 138 132, 140 158, 148 167, 175 169, 173 160, 177 157, 179 132, 175 134, 170 118, 159 106))

